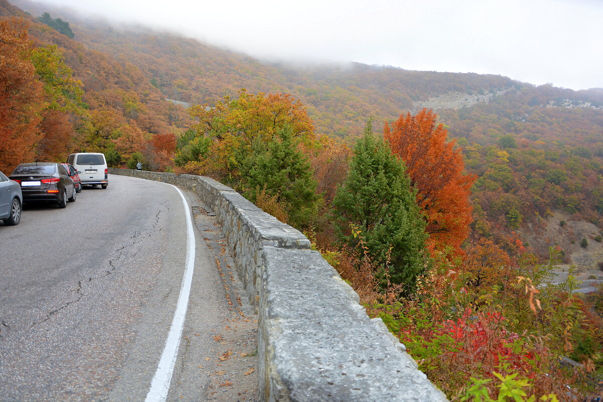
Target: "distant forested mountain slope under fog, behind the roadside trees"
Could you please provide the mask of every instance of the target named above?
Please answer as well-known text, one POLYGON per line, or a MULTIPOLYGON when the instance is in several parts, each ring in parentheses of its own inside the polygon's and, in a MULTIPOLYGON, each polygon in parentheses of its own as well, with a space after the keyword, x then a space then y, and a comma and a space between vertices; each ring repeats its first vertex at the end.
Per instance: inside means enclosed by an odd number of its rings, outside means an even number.
POLYGON ((149 133, 178 132, 190 120, 164 98, 213 105, 245 88, 291 93, 308 108, 318 134, 347 139, 368 118, 380 131, 401 113, 432 107, 479 177, 476 236, 498 237, 511 247, 514 230, 542 222, 555 209, 602 225, 603 89, 359 63, 301 68, 144 27, 117 28, 40 3, 15 3, 33 16, 49 11, 69 21, 74 40, 39 25, 32 34, 66 49, 91 110, 114 110, 114 120, 133 120, 149 133))

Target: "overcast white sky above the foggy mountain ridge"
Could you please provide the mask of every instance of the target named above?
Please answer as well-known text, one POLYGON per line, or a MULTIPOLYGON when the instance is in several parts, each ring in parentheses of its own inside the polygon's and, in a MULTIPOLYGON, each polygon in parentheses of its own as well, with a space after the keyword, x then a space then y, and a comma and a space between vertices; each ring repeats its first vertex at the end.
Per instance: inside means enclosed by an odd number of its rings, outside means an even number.
POLYGON ((603 87, 603 0, 44 0, 255 57, 603 87))

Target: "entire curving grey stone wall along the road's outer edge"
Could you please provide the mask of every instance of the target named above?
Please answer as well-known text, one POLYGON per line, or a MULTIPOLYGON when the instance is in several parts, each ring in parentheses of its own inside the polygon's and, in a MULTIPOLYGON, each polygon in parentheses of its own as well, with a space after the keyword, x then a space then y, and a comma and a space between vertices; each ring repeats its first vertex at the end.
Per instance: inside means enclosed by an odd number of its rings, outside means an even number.
POLYGON ((189 189, 216 214, 258 312, 263 401, 446 401, 300 231, 208 177, 109 173, 189 189))

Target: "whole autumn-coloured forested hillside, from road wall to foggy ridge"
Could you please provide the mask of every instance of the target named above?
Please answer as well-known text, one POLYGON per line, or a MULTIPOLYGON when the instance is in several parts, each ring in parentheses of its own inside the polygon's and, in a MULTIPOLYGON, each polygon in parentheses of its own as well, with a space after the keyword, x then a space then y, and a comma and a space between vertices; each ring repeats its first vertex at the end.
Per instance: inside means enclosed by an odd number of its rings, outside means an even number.
POLYGON ((13 3, 1 171, 209 175, 302 230, 450 400, 603 392, 603 285, 572 267, 603 280, 603 89, 301 67, 13 3))

